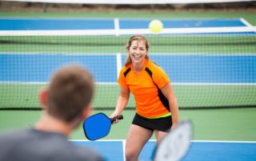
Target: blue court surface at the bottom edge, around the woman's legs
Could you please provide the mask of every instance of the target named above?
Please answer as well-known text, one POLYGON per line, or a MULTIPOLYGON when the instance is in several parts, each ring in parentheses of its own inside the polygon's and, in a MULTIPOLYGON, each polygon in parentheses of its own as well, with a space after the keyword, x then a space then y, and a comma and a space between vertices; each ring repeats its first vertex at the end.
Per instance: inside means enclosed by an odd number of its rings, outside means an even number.
MULTIPOLYGON (((81 146, 91 147, 98 151, 106 160, 124 160, 123 140, 82 141, 73 140, 81 146)), ((150 140, 143 148, 140 161, 152 160, 155 141, 150 140)), ((193 141, 190 150, 182 161, 186 160, 232 160, 253 161, 256 160, 256 142, 218 142, 218 141, 193 141)))

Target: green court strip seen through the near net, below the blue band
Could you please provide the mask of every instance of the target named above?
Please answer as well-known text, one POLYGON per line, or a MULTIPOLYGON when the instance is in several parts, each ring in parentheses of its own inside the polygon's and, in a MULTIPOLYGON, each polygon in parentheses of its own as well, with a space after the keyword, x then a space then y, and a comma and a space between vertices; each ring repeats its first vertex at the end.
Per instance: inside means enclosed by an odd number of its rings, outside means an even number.
MULTIPOLYGON (((45 86, 43 84, 0 84, 1 108, 39 108, 38 92, 45 86)), ((173 86, 179 106, 182 108, 256 104, 255 85, 173 86)), ((98 84, 94 95, 94 108, 114 108, 118 93, 118 84, 98 84)), ((135 107, 132 94, 127 107, 135 107)))

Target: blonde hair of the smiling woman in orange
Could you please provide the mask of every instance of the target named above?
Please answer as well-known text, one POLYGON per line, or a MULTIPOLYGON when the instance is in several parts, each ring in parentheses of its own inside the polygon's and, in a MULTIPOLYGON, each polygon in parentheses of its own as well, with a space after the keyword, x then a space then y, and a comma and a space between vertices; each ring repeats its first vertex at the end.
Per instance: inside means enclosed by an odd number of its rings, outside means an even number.
MULTIPOLYGON (((145 42, 145 45, 146 45, 146 51, 149 51, 149 48, 150 48, 150 43, 149 41, 146 39, 146 37, 143 37, 141 35, 134 35, 132 37, 130 37, 129 41, 127 42, 126 44, 126 49, 127 51, 129 52, 129 49, 130 49, 130 46, 131 46, 131 43, 133 41, 144 41, 145 42)), ((148 56, 148 54, 146 54, 146 59, 149 59, 150 57, 148 56)), ((128 54, 127 58, 126 58, 126 66, 127 65, 130 65, 131 63, 131 58, 130 58, 130 55, 128 54)))

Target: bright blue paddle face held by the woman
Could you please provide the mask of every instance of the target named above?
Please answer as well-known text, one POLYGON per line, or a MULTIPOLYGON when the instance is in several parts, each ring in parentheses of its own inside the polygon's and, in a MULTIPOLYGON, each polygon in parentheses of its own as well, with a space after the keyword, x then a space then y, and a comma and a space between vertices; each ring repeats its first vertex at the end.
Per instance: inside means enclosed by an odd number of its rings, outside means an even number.
POLYGON ((83 122, 83 130, 86 138, 90 140, 100 139, 109 134, 111 121, 104 113, 98 113, 88 117, 83 122))

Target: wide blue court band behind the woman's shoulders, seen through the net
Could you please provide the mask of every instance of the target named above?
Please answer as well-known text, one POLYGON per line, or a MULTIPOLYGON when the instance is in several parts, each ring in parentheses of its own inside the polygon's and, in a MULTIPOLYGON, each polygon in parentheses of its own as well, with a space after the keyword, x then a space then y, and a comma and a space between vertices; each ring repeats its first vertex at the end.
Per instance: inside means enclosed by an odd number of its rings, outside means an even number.
MULTIPOLYGON (((125 62, 126 55, 121 59, 125 62)), ((160 65, 174 83, 256 83, 256 55, 154 54, 150 59, 160 65)), ((90 69, 97 82, 114 83, 118 79, 116 54, 0 53, 0 60, 0 81, 47 82, 55 69, 72 63, 90 69)))

